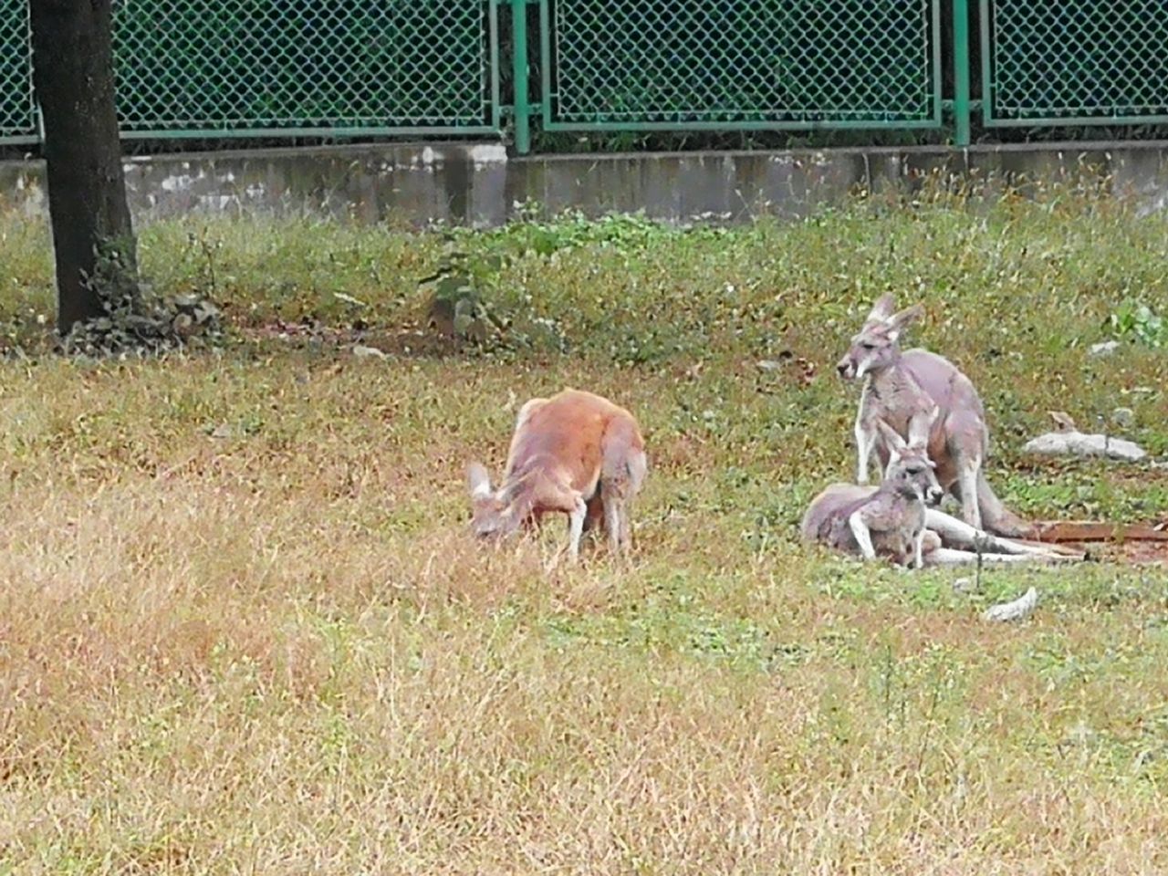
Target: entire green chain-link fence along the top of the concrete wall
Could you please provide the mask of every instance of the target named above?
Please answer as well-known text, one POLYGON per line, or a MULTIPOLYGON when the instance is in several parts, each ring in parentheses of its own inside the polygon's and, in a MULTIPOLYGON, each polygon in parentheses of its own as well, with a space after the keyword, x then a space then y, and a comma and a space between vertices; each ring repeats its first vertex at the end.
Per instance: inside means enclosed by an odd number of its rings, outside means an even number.
MULTIPOLYGON (((0 144, 39 140, 28 2, 0 0, 0 144)), ((1166 0, 979 0, 968 39, 964 26, 943 39, 943 12, 964 22, 966 2, 116 0, 118 114, 142 139, 498 137, 502 81, 524 142, 529 119, 939 131, 943 65, 968 72, 972 53, 987 128, 1168 124, 1166 0), (530 50, 515 25, 528 9, 530 50)), ((969 89, 957 91, 967 142, 969 89)))

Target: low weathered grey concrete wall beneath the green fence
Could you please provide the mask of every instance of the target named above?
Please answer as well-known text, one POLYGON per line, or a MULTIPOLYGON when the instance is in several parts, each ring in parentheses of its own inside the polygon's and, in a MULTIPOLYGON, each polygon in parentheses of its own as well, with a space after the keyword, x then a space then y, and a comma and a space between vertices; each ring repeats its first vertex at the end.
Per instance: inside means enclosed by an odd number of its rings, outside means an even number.
MULTIPOLYGON (((487 227, 534 202, 549 213, 735 222, 802 216, 858 188, 912 192, 936 175, 990 187, 1094 181, 1138 199, 1141 210, 1168 208, 1168 142, 520 159, 498 144, 405 144, 157 155, 126 169, 139 221, 208 211, 487 227)), ((42 179, 40 161, 0 162, 0 197, 43 211, 42 179)))

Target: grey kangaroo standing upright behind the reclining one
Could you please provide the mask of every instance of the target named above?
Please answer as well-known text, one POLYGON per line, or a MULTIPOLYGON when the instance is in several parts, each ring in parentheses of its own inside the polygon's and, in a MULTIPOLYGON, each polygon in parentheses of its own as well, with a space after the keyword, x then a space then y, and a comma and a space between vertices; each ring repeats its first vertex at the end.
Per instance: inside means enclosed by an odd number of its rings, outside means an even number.
POLYGON ((924 308, 917 304, 895 310, 892 296, 882 296, 836 366, 844 378, 864 382, 856 416, 856 481, 868 482, 874 450, 888 464, 889 447, 877 429, 881 420, 905 437, 927 429, 937 480, 961 502, 965 522, 997 535, 1026 535, 1030 527, 1002 505, 986 480, 989 432, 978 390, 943 356, 925 349, 902 352, 902 333, 924 308), (926 426, 934 405, 940 416, 926 426))

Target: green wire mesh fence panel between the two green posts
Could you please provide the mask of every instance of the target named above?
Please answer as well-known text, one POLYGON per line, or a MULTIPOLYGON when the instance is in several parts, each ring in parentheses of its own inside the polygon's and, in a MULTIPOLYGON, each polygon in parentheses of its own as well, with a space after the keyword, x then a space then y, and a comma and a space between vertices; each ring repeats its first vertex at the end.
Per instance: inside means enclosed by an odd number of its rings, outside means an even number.
POLYGON ((934 0, 543 0, 551 127, 940 124, 934 0))

